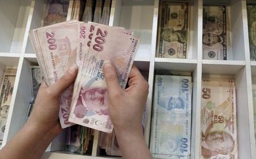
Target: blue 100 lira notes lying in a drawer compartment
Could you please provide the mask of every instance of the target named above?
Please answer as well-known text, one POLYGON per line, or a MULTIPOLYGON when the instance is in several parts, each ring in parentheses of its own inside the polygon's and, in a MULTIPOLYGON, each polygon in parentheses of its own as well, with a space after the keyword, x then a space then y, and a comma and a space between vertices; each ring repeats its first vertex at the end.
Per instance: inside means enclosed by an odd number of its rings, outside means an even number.
POLYGON ((156 75, 153 103, 153 158, 190 158, 192 77, 156 75))

